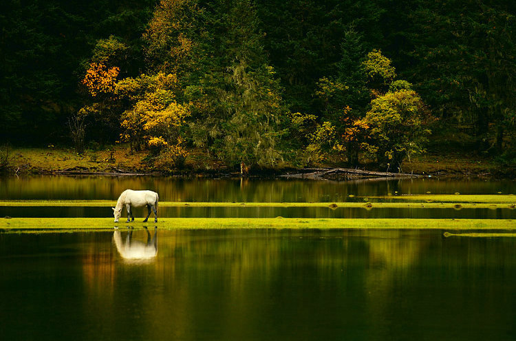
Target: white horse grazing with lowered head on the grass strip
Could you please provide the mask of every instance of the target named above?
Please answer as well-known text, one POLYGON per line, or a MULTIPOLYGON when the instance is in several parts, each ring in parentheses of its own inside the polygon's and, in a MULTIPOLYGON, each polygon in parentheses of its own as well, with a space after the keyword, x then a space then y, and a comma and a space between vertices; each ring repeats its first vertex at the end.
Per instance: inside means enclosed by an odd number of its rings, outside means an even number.
POLYGON ((133 211, 131 207, 143 207, 147 206, 149 209, 149 214, 147 214, 147 218, 143 220, 145 223, 149 216, 151 215, 151 209, 154 212, 154 223, 158 222, 158 193, 152 191, 133 191, 132 189, 126 189, 120 196, 118 197, 118 201, 116 202, 116 207, 111 207, 113 209, 113 214, 115 216, 115 223, 118 223, 118 219, 122 214, 122 208, 127 209, 127 223, 129 223, 129 219, 132 218, 131 221, 134 220, 133 211))

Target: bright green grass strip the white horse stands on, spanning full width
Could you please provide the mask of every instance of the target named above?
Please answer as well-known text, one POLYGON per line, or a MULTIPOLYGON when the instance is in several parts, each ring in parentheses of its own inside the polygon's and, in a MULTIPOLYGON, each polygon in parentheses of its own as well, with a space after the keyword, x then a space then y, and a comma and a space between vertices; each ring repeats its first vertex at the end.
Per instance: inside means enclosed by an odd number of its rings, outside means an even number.
POLYGON ((3 218, 0 229, 449 229, 515 230, 516 220, 502 219, 320 219, 320 218, 160 218, 157 224, 113 223, 113 218, 3 218))

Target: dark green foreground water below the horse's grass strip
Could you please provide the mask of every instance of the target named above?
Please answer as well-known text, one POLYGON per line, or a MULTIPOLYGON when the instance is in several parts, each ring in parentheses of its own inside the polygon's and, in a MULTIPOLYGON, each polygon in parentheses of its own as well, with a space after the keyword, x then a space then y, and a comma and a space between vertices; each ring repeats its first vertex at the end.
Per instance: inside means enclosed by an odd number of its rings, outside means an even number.
POLYGON ((515 340, 516 239, 441 235, 0 234, 0 340, 515 340))

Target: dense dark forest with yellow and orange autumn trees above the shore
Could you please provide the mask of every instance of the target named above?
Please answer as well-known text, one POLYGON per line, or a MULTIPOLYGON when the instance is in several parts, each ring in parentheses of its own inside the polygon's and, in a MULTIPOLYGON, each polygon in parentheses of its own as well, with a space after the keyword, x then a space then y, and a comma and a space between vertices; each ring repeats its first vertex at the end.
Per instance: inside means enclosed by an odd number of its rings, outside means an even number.
POLYGON ((71 132, 79 151, 127 142, 162 167, 197 148, 233 166, 395 169, 429 140, 516 157, 512 1, 0 6, 6 141, 71 132))

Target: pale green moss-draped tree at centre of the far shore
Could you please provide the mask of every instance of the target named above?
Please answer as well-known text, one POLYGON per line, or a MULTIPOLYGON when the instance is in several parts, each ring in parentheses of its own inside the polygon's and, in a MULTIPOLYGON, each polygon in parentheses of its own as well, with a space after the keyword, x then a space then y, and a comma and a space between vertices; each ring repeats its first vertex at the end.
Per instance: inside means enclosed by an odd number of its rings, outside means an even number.
POLYGON ((244 63, 229 69, 233 72, 224 92, 227 121, 222 122, 223 137, 215 147, 226 163, 244 161, 271 167, 281 159, 279 123, 283 110, 272 68, 262 65, 252 71, 244 63))

